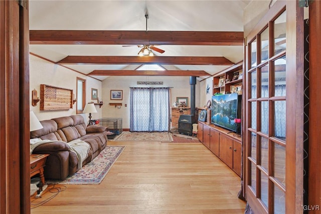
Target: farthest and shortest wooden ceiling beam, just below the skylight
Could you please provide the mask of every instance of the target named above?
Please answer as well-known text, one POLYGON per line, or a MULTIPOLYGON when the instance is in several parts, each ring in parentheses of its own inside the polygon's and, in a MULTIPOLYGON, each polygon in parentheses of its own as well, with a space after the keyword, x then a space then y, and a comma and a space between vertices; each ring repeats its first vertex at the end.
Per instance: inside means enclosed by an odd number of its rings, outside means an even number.
POLYGON ((211 76, 204 70, 94 70, 93 76, 211 76))

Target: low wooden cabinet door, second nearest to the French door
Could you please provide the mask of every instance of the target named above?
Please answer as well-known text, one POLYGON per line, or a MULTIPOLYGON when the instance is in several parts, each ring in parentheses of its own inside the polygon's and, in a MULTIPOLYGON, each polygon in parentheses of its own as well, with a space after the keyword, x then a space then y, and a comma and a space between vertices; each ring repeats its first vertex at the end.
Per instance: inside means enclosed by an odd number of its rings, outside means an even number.
POLYGON ((220 135, 219 157, 233 169, 233 140, 224 134, 220 135))

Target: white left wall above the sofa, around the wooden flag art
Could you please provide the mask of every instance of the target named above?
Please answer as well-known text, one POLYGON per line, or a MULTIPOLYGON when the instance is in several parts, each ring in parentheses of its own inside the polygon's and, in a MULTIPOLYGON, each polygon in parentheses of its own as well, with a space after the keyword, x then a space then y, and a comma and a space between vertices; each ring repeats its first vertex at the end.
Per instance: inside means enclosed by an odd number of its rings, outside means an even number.
MULTIPOLYGON (((52 85, 62 88, 72 89, 76 97, 77 77, 86 79, 86 101, 91 100, 91 88, 98 89, 98 97, 102 96, 100 80, 91 78, 81 73, 75 72, 60 65, 51 63, 34 55, 30 55, 30 111, 34 111, 37 118, 48 120, 57 117, 76 115, 76 104, 73 108, 65 111, 40 111, 40 102, 37 106, 32 106, 32 90, 36 89, 40 97, 40 84, 52 85)), ((92 114, 92 119, 101 118, 101 109, 96 105, 98 113, 92 114)), ((87 117, 88 118, 88 114, 87 117)))

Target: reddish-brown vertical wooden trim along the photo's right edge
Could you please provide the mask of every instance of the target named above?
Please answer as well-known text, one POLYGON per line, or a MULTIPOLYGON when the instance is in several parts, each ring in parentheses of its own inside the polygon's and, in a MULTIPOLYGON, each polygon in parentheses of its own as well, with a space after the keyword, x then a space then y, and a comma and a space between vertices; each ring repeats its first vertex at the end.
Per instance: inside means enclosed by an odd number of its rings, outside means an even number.
MULTIPOLYGON (((321 75, 319 63, 321 59, 320 42, 321 2, 313 1, 309 6, 309 176, 308 176, 308 205, 321 206, 321 134, 317 127, 320 126, 320 102, 319 85, 321 75)), ((320 207, 321 208, 321 207, 320 207)), ((309 210, 309 213, 318 213, 319 210, 309 210)))

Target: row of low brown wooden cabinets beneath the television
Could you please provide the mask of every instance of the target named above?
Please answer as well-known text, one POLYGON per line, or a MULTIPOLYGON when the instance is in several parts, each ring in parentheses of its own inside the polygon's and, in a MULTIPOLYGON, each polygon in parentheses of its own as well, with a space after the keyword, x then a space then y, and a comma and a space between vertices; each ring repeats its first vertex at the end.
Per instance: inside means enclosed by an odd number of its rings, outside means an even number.
POLYGON ((206 122, 198 122, 198 139, 241 176, 241 136, 206 122))

